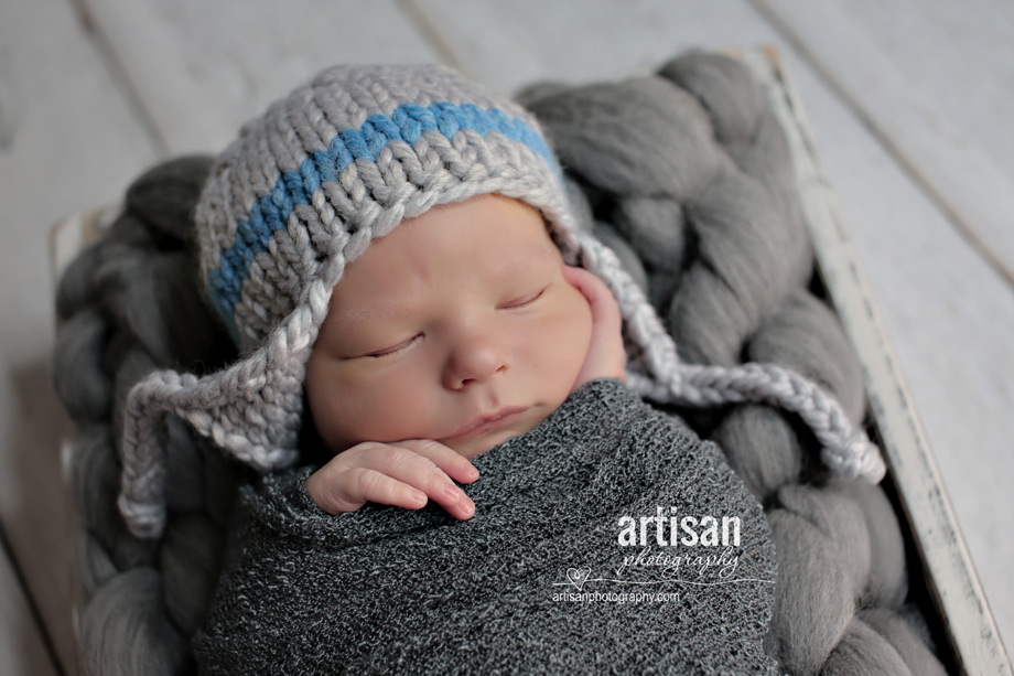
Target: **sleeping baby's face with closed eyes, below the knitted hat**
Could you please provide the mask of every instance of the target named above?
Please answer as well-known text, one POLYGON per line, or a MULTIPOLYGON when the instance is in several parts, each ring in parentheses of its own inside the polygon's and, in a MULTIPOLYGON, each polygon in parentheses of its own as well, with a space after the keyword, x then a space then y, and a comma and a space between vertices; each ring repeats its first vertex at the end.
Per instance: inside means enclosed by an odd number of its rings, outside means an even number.
POLYGON ((374 242, 335 287, 306 394, 331 451, 434 439, 465 458, 527 432, 574 388, 587 300, 533 207, 439 206, 374 242))

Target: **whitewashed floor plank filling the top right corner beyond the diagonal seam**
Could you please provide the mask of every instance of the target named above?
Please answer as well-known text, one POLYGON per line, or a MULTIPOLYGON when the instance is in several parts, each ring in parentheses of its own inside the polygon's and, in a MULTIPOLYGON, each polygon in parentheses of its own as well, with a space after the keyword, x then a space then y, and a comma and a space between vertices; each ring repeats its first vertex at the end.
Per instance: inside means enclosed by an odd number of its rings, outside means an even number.
POLYGON ((1014 287, 1014 4, 757 4, 1014 287))

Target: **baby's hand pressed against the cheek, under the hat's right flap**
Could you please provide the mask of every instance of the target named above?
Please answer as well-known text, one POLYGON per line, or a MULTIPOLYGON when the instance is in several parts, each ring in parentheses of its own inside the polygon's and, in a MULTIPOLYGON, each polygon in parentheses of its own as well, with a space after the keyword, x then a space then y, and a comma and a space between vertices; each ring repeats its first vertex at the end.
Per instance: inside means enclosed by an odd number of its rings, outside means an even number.
POLYGON ((623 347, 622 319, 613 292, 584 268, 563 267, 563 278, 581 291, 592 309, 592 342, 574 389, 595 378, 627 382, 627 353, 623 347))

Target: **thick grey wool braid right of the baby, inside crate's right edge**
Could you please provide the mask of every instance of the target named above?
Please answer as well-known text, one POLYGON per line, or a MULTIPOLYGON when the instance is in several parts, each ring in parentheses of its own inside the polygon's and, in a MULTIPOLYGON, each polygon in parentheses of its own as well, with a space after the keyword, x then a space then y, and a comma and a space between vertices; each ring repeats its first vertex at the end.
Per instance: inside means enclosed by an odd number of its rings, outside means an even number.
MULTIPOLYGON (((745 67, 688 55, 658 76, 535 87, 522 100, 583 185, 596 232, 626 240, 621 260, 636 251, 630 272, 647 277, 683 362, 788 367, 833 394, 850 422, 861 421, 859 363, 833 313, 807 289, 813 256, 788 146, 745 67), (635 135, 603 131, 632 119, 635 135)), ((705 427, 769 508, 780 564, 770 654, 800 674, 870 665, 941 673, 897 614, 907 593, 903 538, 881 489, 826 485, 816 440, 777 407, 735 406, 705 427), (815 483, 794 485, 803 481, 815 483), (863 608, 897 622, 872 629, 856 612, 863 608)))

